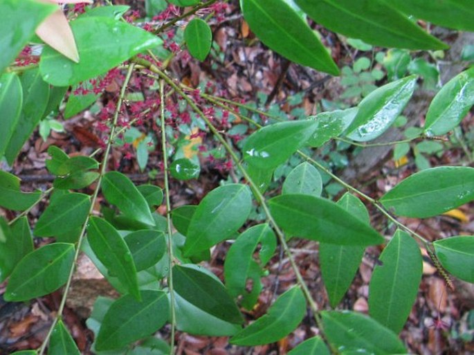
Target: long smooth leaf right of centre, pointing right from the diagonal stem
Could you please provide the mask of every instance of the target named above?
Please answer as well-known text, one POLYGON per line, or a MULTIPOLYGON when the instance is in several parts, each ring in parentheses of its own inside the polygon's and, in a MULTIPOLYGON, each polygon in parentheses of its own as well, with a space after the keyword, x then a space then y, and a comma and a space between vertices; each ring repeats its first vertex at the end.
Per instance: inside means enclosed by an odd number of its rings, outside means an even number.
POLYGON ((283 194, 273 197, 268 205, 278 226, 290 235, 339 245, 383 243, 372 227, 327 199, 283 194))

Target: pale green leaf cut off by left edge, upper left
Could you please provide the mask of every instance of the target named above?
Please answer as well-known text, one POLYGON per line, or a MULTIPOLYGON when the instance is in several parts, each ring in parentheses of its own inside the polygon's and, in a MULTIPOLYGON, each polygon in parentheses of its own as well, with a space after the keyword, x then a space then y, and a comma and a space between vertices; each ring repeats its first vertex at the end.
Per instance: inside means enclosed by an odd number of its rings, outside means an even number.
POLYGON ((18 75, 4 73, 0 76, 0 112, 2 113, 0 157, 5 153, 7 144, 17 127, 22 105, 23 90, 18 75))

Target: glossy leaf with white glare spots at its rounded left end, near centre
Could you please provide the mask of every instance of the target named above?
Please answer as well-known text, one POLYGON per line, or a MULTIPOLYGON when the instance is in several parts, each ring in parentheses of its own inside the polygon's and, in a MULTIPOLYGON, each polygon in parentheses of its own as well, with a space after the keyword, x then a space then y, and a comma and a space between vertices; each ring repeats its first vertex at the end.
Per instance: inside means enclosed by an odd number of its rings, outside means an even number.
POLYGON ((251 134, 242 151, 249 165, 271 169, 284 163, 313 136, 318 123, 314 120, 278 122, 251 134))

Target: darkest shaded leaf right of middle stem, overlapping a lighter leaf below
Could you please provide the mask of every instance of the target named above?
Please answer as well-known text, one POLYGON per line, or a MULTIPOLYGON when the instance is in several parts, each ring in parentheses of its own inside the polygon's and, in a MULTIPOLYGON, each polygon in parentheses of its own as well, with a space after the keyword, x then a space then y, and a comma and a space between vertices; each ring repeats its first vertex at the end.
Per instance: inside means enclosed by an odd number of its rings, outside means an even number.
POLYGON ((174 291, 212 316, 226 322, 241 323, 241 313, 224 285, 217 277, 203 273, 200 268, 194 265, 173 266, 174 291))

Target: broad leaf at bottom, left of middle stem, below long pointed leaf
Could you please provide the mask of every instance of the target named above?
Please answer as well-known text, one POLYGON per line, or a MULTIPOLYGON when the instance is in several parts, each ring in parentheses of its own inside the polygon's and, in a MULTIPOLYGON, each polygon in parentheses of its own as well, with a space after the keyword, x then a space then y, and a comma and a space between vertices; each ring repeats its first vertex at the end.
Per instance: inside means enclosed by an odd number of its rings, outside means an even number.
POLYGON ((124 295, 111 305, 100 327, 95 349, 119 349, 163 327, 170 304, 163 291, 141 291, 141 302, 124 295))

